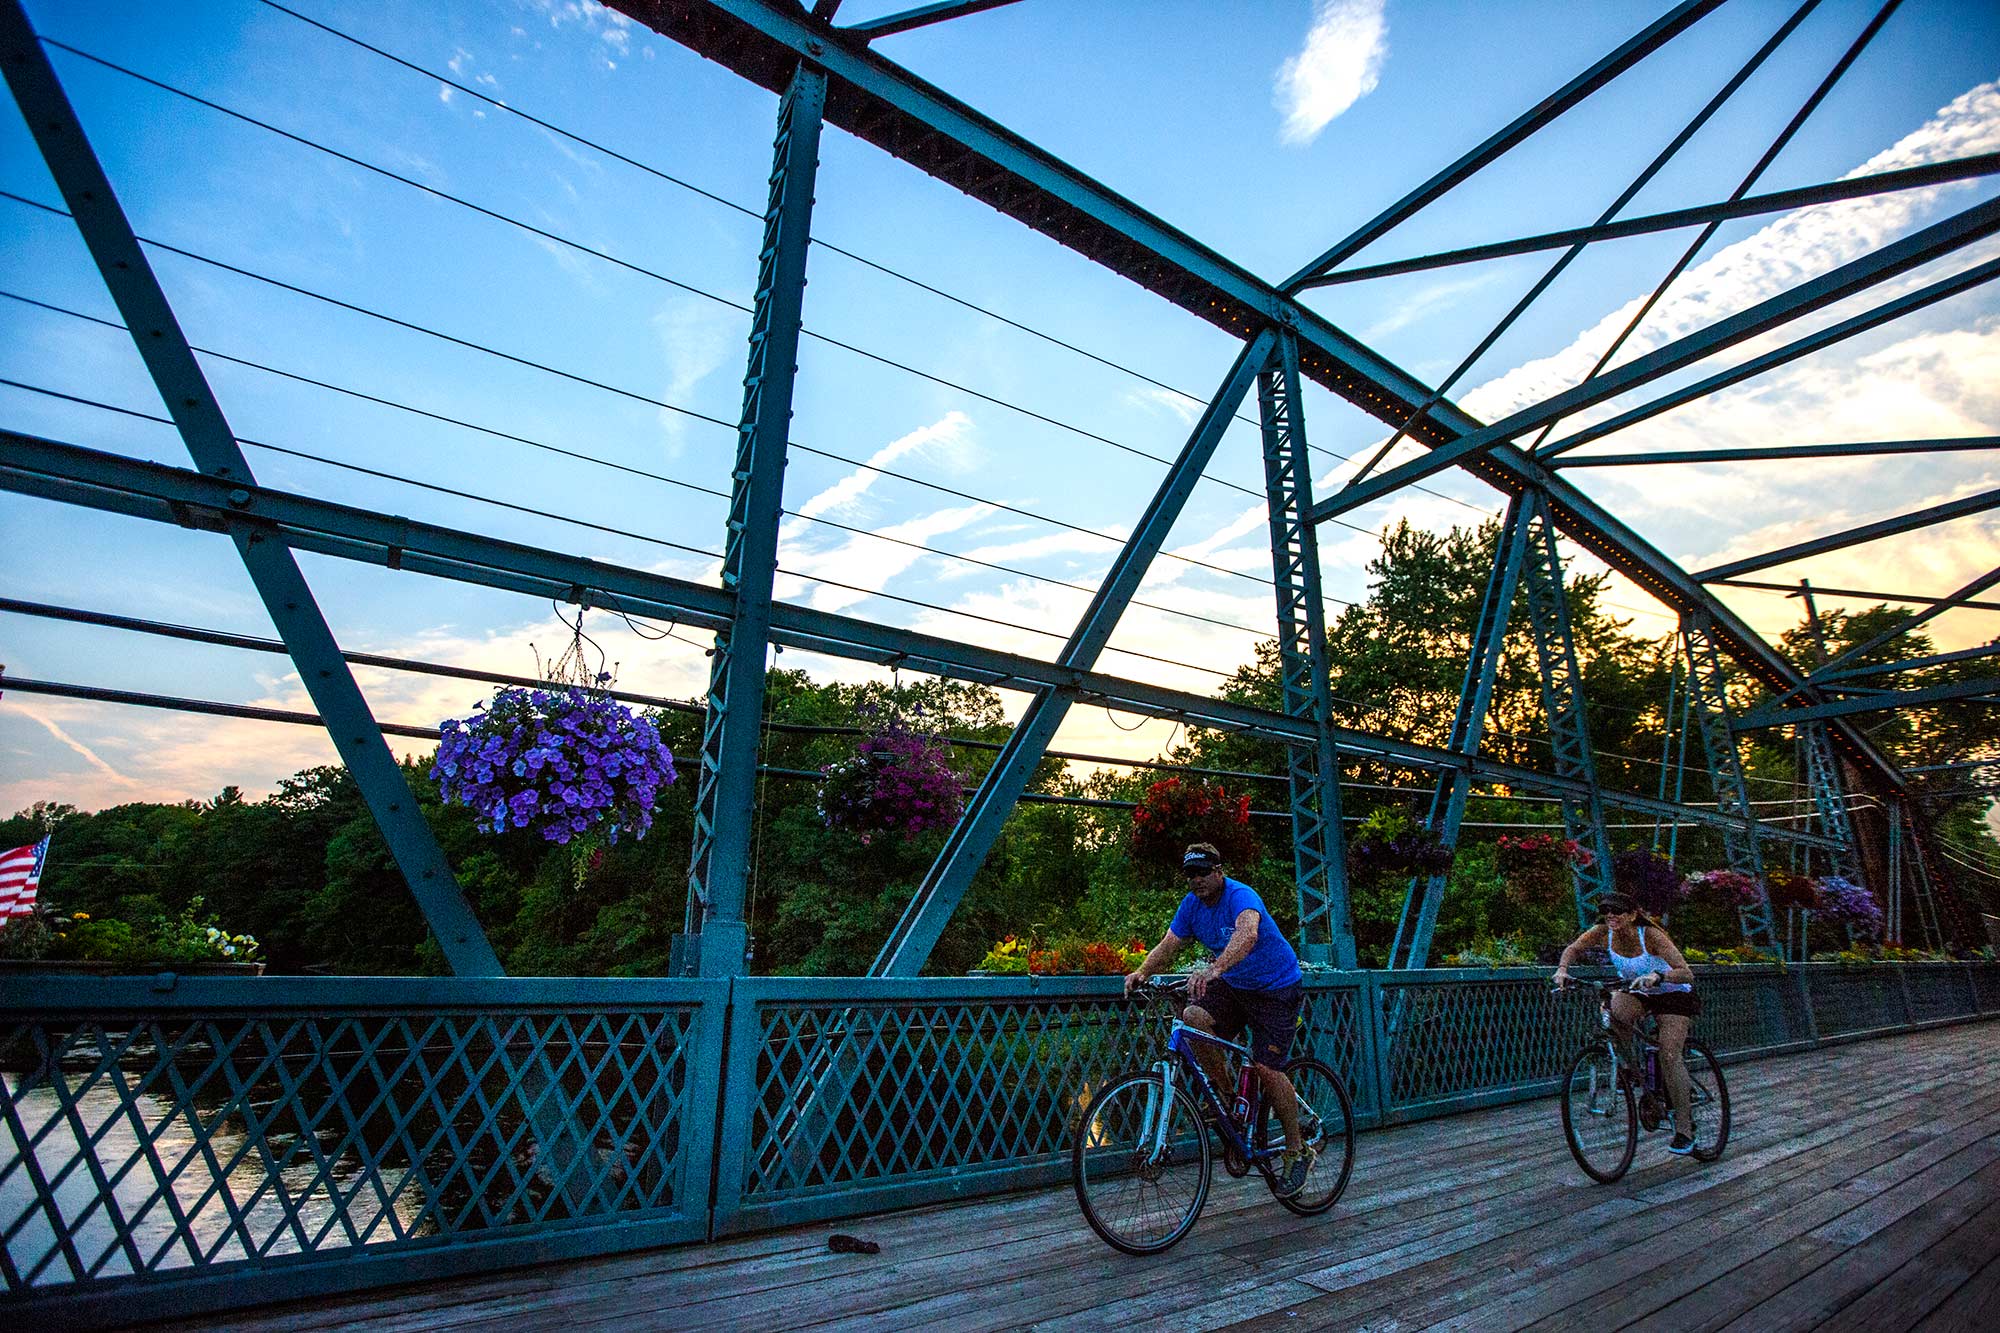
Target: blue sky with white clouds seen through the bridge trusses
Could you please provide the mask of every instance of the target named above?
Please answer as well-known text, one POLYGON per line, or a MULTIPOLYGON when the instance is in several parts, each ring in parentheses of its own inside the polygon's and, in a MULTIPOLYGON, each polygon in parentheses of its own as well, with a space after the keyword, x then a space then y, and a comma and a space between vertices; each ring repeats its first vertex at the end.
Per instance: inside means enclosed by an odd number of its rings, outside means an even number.
MULTIPOLYGON (((50 56, 134 228, 214 260, 150 250, 232 428, 256 442, 258 480, 714 580, 776 98, 588 0, 286 6, 28 4, 46 38, 84 52, 50 56)), ((842 18, 900 8, 850 0, 842 18)), ((1664 8, 1022 0, 878 48, 1280 280, 1664 8)), ((1594 220, 1792 10, 1732 0, 1358 262, 1594 220)), ((1626 214, 1726 198, 1874 10, 1822 2, 1626 214)), ((0 190, 56 202, 16 108, 0 102, 0 190)), ((1994 150, 2000 12, 1908 0, 1758 190, 1994 150)), ((1964 182, 1732 222, 1620 356, 1994 192, 1964 182)), ((824 244, 808 270, 778 594, 1054 656, 1238 346, 836 128, 822 142, 814 236, 824 244)), ((1460 402, 1490 420, 1578 382, 1688 238, 1594 246, 1468 370, 1460 402)), ((1994 240, 1968 246, 1576 422, 1996 254, 1994 240)), ((1436 382, 1548 262, 1344 284, 1308 302, 1436 382)), ((78 318, 116 312, 66 218, 0 198, 0 378, 18 384, 0 384, 0 424, 186 464, 168 426, 70 400, 160 412, 126 334, 78 318)), ((1352 472, 1344 458, 1366 456, 1386 430, 1316 386, 1304 412, 1314 488, 1330 494, 1352 472)), ((2000 290, 1986 286, 1580 452, 1996 432, 2000 290)), ((1392 462, 1414 454, 1404 446, 1392 462)), ((1986 490, 1996 470, 1994 454, 1964 452, 1568 478, 1702 568, 1986 490)), ((1366 594, 1382 528, 1408 518, 1442 530, 1500 508, 1498 494, 1446 472, 1322 526, 1328 612, 1366 594)), ((214 534, 12 494, 0 494, 0 532, 4 596, 272 634, 234 548, 214 534)), ((532 675, 538 652, 566 642, 546 602, 312 554, 300 564, 348 650, 532 675)), ((2000 518, 1986 514, 1762 576, 1944 594, 1994 564, 2000 518)), ((1578 554, 1576 568, 1594 562, 1578 554)), ((1214 691, 1270 632, 1268 578, 1262 462, 1242 420, 1102 669, 1214 691)), ((1784 594, 1724 596, 1766 634, 1798 622, 1784 594)), ((1634 632, 1672 628, 1630 584, 1614 584, 1610 602, 1634 632)), ((1930 630, 1968 646, 1994 638, 1994 620, 1954 610, 1930 630)), ((668 626, 602 612, 586 628, 620 687, 704 689, 704 634, 660 636, 668 626)), ((310 709, 282 656, 22 614, 0 612, 0 660, 14 677, 310 709)), ((800 652, 778 662, 876 677, 800 652)), ((436 677, 356 677, 386 723, 436 725, 484 697, 436 677)), ((1022 697, 1006 703, 1018 711, 1022 697)), ((1078 709, 1058 747, 1150 757, 1170 735, 1170 723, 1078 709)), ((0 811, 208 799, 226 785, 258 795, 332 761, 314 729, 0 699, 0 811)))

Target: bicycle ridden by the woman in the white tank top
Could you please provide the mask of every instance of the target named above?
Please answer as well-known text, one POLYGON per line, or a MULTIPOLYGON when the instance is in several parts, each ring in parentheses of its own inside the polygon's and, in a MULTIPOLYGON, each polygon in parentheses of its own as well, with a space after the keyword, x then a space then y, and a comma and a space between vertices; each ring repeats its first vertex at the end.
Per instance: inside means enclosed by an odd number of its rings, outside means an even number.
MULTIPOLYGON (((1584 1043, 1562 1081, 1562 1135, 1584 1173, 1602 1185, 1620 1179, 1638 1151, 1638 1131, 1674 1129, 1674 1109, 1660 1079, 1658 1023, 1644 1015, 1634 1025, 1638 1069, 1618 1055, 1612 1037, 1612 995, 1622 985, 1596 983, 1602 1033, 1584 1043)), ((1688 1069, 1688 1111, 1694 1115, 1694 1159, 1716 1161, 1730 1141, 1730 1087, 1722 1065, 1700 1041, 1682 1053, 1688 1069)))

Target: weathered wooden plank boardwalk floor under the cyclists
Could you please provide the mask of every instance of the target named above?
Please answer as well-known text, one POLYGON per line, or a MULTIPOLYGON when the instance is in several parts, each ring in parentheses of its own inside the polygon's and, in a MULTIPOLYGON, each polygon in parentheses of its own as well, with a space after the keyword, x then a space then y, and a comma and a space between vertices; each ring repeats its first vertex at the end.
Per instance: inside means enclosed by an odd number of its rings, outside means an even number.
POLYGON ((1554 1101, 1360 1137, 1332 1213, 1218 1171, 1128 1259, 1070 1191, 202 1319, 200 1329, 2000 1329, 2000 1023, 1724 1069, 1728 1153, 1592 1185, 1554 1101), (828 1231, 882 1245, 836 1255, 828 1231))

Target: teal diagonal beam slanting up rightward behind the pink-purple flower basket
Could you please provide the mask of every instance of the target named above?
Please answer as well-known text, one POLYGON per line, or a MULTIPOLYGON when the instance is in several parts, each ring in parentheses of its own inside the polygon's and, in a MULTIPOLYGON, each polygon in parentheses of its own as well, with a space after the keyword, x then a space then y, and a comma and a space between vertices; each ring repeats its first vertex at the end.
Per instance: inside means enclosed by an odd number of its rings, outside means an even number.
MULTIPOLYGON (((1202 410, 1200 420, 1194 422, 1194 430, 1188 434, 1180 456, 1174 458, 1174 466, 1160 480, 1160 488, 1154 492, 1144 516, 1118 550, 1118 558, 1112 562, 1104 582, 1098 584, 1096 596, 1090 598, 1090 606, 1070 632, 1070 640, 1062 648, 1060 666, 1086 671, 1096 662, 1098 652, 1104 650, 1112 630, 1118 626, 1118 616, 1124 614, 1132 594, 1138 592, 1140 578, 1146 576, 1152 556, 1158 554, 1174 520, 1180 518, 1194 482, 1200 480, 1202 470, 1216 452, 1216 444, 1222 442, 1236 404, 1250 392, 1250 386, 1256 382, 1258 372, 1264 370, 1276 346, 1278 334, 1266 328, 1236 356, 1236 364, 1224 376, 1222 388, 1216 390, 1216 396, 1202 410)), ((882 953, 870 965, 870 977, 916 977, 924 969, 930 951, 938 945, 938 937, 944 935, 946 923, 958 911, 960 899, 972 887, 972 877, 986 861, 994 839, 1000 837, 1000 825, 1014 809, 1020 793, 1028 789, 1028 779, 1034 777, 1036 765, 1042 763, 1042 755, 1048 751, 1056 729, 1062 727, 1062 719, 1074 701, 1074 691, 1036 691, 1020 723, 1008 735, 1006 749, 1000 751, 992 769, 986 771, 978 793, 974 793, 966 805, 966 813, 960 815, 958 825, 952 827, 950 837, 944 841, 944 851, 938 853, 936 863, 924 875, 924 883, 918 885, 902 919, 882 945, 882 953)), ((1310 729, 1310 735, 1314 745, 1318 745, 1318 729, 1310 729)))

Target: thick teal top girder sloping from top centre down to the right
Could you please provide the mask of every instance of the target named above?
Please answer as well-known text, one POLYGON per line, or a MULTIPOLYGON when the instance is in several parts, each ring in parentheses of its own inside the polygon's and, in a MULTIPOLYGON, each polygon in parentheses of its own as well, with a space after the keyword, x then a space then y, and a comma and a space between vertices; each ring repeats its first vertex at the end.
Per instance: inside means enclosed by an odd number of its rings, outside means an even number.
MULTIPOLYGON (((1270 282, 880 52, 852 38, 842 40, 838 30, 796 6, 776 0, 612 0, 612 8, 772 92, 784 90, 802 56, 816 60, 830 78, 828 124, 876 144, 1238 338, 1250 338, 1268 324, 1294 330, 1300 372, 1390 426, 1400 426, 1432 396, 1416 376, 1270 282)), ((1454 402, 1440 400, 1412 426, 1410 438, 1438 446, 1480 430, 1482 424, 1454 402)), ((1684 568, 1514 444, 1500 444, 1460 466, 1510 496, 1528 484, 1544 486, 1556 526, 1576 544, 1672 610, 1706 612, 1718 642, 1766 687, 1786 691, 1800 683, 1792 662, 1684 568)), ((1834 743, 1870 785, 1902 789, 1894 765, 1864 735, 1836 723, 1834 743)))

